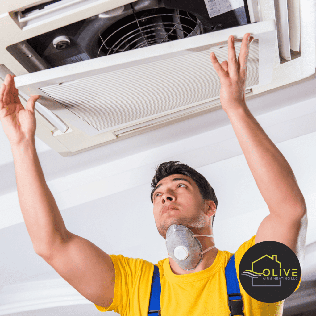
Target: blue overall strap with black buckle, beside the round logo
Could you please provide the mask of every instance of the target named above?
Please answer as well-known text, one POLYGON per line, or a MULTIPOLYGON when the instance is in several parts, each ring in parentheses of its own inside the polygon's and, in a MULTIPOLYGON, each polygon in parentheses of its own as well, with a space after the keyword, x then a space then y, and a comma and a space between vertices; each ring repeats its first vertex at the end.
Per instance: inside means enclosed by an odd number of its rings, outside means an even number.
POLYGON ((242 296, 235 267, 235 254, 230 258, 225 268, 226 286, 228 294, 229 316, 244 315, 242 296))

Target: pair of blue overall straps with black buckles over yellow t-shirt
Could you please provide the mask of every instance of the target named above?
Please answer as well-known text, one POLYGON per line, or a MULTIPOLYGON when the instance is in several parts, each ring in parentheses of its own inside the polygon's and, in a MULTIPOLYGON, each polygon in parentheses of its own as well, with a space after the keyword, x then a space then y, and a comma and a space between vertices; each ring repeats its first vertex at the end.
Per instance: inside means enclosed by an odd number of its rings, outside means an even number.
MULTIPOLYGON (((239 283, 235 268, 235 254, 230 258, 225 268, 226 286, 228 294, 228 306, 230 309, 230 316, 244 315, 242 297, 240 294, 239 283)), ((160 313, 160 276, 159 268, 154 264, 153 279, 151 282, 150 299, 148 316, 161 316, 160 313)))

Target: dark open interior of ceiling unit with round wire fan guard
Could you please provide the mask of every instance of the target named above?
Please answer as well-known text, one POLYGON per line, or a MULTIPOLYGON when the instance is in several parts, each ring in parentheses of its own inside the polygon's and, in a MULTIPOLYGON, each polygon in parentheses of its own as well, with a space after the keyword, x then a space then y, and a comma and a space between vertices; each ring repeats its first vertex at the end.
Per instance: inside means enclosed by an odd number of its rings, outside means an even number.
MULTIPOLYGON (((46 15, 51 21, 54 12, 57 18, 60 12, 65 15, 72 10, 68 0, 53 2, 15 15, 24 14, 23 19, 34 15, 44 23, 46 15)), ((74 5, 88 2, 91 0, 76 0, 74 5)), ((139 0, 36 35, 7 50, 28 72, 35 72, 250 23, 247 1, 242 3, 245 5, 209 17, 204 1, 192 7, 181 1, 139 0)))

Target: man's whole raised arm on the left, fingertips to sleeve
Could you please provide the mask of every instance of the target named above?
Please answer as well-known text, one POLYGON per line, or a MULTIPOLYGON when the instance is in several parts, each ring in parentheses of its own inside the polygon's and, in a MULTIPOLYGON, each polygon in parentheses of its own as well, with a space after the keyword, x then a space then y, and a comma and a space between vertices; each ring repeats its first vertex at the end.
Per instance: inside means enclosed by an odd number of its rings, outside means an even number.
POLYGON ((109 307, 115 270, 108 254, 90 241, 70 233, 49 190, 35 149, 35 101, 26 109, 14 79, 7 75, 0 89, 0 119, 14 158, 18 197, 34 251, 89 301, 109 307))

